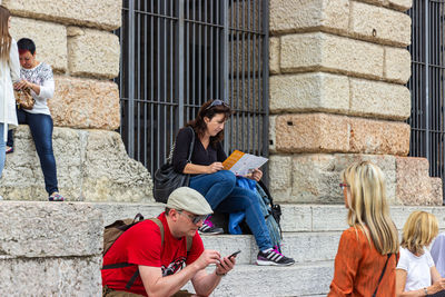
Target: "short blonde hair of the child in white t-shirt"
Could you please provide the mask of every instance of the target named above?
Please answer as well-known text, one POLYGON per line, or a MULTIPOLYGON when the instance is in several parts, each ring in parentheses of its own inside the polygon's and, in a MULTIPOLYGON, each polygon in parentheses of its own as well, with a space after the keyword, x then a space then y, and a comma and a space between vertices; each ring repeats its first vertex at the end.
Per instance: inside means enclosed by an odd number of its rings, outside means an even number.
POLYGON ((437 218, 426 211, 414 211, 405 222, 402 247, 411 253, 422 255, 424 247, 429 246, 438 234, 437 218))

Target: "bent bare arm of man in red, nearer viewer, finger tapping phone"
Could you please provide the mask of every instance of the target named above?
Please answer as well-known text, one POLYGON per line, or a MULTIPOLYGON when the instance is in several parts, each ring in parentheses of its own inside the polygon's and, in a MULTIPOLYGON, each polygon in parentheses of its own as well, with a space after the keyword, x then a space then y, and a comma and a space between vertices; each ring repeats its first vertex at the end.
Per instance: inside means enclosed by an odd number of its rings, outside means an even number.
POLYGON ((157 296, 171 296, 177 293, 188 280, 195 277, 200 270, 206 268, 209 264, 217 264, 219 261, 219 253, 216 250, 205 250, 201 256, 181 269, 177 274, 162 277, 159 267, 150 267, 139 265, 139 274, 142 279, 144 287, 147 295, 150 297, 157 296))

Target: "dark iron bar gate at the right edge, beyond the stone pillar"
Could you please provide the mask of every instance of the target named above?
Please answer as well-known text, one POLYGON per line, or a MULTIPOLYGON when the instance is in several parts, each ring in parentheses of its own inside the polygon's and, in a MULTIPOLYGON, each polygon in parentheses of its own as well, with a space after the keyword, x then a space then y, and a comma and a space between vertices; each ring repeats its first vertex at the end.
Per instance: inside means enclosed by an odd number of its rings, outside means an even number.
MULTIPOLYGON (((412 127, 409 156, 425 157, 444 181, 444 0, 414 0, 412 17, 412 127)), ((445 195, 444 195, 445 197, 445 195)))

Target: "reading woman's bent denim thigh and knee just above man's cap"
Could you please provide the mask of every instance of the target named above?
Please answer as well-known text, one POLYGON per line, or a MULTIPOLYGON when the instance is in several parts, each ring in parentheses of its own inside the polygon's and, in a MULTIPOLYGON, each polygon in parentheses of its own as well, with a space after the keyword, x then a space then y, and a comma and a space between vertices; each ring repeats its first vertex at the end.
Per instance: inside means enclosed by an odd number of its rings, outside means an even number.
POLYGON ((234 172, 220 170, 210 175, 190 177, 189 187, 199 191, 209 202, 211 209, 216 209, 231 192, 236 184, 234 172))

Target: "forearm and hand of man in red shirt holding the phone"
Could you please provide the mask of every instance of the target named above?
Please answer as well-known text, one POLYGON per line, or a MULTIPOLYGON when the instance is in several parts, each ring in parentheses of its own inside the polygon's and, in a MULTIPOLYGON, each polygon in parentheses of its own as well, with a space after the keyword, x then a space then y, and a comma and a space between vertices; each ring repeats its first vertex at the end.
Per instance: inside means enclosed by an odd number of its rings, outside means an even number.
POLYGON ((207 274, 205 270, 198 271, 191 279, 196 294, 199 296, 210 295, 221 281, 222 275, 234 268, 235 263, 235 258, 225 257, 221 264, 217 264, 217 268, 212 274, 207 274))

